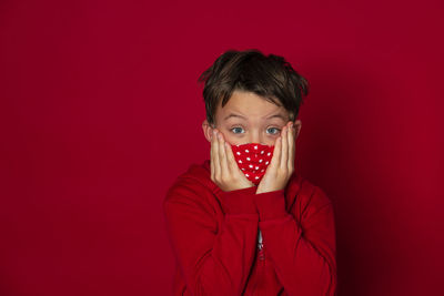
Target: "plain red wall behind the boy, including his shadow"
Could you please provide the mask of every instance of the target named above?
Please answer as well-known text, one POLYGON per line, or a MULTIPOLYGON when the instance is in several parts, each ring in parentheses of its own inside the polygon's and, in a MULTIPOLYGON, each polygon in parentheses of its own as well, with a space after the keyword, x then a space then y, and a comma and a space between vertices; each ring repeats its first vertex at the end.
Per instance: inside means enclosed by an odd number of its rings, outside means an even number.
POLYGON ((210 156, 228 49, 311 83, 296 167, 334 202, 339 295, 442 295, 442 1, 1 1, 0 295, 170 295, 165 191, 210 156))

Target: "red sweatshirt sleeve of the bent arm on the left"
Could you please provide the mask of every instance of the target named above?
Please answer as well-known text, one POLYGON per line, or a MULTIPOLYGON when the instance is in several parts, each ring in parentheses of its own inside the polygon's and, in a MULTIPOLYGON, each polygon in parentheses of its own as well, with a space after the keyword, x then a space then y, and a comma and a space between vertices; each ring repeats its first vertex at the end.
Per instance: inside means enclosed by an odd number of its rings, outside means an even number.
MULTIPOLYGON (((259 215, 255 187, 222 192, 218 228, 209 190, 181 185, 163 203, 168 231, 192 295, 241 295, 253 264, 259 215)), ((212 196, 211 196, 212 197, 212 196)))

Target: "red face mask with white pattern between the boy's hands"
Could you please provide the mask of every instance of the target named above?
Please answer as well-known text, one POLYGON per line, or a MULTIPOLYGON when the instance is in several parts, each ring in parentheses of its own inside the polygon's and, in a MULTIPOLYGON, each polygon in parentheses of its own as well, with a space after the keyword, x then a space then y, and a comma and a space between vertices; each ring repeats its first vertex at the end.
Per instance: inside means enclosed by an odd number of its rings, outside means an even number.
POLYGON ((258 185, 273 156, 274 146, 259 143, 231 145, 239 169, 254 185, 258 185))

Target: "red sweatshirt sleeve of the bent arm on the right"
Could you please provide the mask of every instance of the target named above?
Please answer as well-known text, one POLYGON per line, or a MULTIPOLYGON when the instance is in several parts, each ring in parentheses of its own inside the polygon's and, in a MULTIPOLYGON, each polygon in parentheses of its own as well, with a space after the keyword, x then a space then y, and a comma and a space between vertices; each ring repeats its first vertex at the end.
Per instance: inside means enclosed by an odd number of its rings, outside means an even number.
POLYGON ((333 207, 316 187, 301 221, 285 211, 284 190, 255 198, 265 256, 286 295, 335 295, 336 259, 333 207))

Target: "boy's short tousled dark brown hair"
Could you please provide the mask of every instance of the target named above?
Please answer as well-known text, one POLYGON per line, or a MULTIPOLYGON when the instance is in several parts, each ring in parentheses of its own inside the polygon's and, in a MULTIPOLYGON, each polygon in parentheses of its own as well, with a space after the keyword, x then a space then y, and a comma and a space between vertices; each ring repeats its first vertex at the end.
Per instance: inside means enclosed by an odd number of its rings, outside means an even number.
POLYGON ((250 91, 283 105, 291 121, 296 119, 302 99, 309 94, 307 81, 284 58, 266 57, 256 49, 225 51, 199 76, 198 82, 205 82, 203 100, 206 120, 212 125, 215 124, 220 100, 224 106, 234 90, 250 91))

